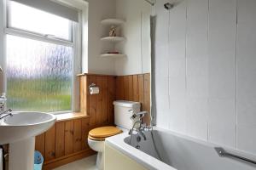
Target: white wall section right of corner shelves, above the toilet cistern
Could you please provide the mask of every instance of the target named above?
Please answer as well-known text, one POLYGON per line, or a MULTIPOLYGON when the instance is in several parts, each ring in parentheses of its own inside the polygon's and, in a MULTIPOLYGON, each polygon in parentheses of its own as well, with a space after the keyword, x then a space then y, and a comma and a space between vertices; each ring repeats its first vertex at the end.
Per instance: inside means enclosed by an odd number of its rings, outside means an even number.
POLYGON ((151 6, 143 0, 116 0, 116 17, 126 21, 121 28, 126 41, 115 48, 127 57, 115 60, 115 75, 150 72, 150 14, 151 6))

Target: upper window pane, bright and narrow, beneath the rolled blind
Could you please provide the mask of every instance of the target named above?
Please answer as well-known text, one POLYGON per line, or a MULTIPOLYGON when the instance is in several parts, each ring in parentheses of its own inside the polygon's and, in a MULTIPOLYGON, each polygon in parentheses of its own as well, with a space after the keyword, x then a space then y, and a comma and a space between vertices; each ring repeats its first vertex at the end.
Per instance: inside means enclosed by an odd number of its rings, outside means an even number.
POLYGON ((10 27, 72 40, 72 21, 13 1, 9 8, 10 27))

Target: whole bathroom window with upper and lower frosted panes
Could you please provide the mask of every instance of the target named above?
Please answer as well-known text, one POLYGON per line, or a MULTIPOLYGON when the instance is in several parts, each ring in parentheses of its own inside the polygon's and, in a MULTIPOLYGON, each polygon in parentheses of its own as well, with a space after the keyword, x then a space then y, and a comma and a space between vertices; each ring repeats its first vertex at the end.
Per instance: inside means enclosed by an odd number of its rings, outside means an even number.
POLYGON ((9 1, 7 8, 7 105, 14 111, 73 111, 78 22, 61 14, 67 7, 52 14, 41 8, 50 4, 22 2, 9 1))

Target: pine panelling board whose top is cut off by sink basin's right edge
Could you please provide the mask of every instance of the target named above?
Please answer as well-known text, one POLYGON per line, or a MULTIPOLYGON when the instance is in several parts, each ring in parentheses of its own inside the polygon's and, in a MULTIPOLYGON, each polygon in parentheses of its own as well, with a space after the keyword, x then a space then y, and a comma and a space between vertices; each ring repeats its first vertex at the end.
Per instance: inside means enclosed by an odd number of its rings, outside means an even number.
POLYGON ((45 161, 55 159, 55 125, 45 133, 45 161))

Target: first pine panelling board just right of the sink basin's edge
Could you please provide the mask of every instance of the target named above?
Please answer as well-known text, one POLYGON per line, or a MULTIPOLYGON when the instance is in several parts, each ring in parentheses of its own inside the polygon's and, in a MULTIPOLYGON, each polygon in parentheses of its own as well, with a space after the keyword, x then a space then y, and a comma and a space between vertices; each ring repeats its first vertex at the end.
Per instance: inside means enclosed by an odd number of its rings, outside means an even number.
POLYGON ((65 156, 65 122, 56 122, 55 157, 65 156))

